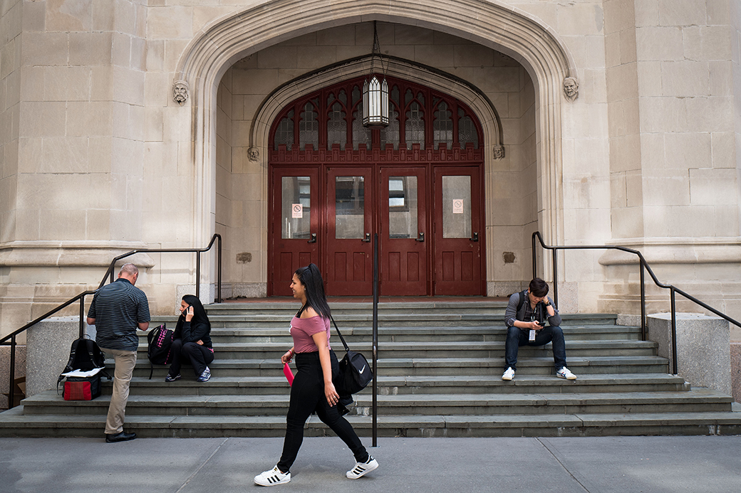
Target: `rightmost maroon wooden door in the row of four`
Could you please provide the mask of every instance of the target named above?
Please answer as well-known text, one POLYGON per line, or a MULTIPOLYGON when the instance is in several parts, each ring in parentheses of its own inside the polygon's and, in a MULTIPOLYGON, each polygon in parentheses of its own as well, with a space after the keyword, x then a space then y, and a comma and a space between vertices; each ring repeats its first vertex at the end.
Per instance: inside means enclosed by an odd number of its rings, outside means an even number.
POLYGON ((482 212, 479 167, 434 168, 435 295, 482 292, 482 212))

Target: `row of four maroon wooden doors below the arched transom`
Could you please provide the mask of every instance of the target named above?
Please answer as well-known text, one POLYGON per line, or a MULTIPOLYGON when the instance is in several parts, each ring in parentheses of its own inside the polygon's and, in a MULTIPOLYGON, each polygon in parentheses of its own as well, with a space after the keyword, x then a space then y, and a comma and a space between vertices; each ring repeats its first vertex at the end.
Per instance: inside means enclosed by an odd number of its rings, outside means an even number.
POLYGON ((482 295, 480 167, 273 167, 270 295, 313 262, 328 295, 482 295))

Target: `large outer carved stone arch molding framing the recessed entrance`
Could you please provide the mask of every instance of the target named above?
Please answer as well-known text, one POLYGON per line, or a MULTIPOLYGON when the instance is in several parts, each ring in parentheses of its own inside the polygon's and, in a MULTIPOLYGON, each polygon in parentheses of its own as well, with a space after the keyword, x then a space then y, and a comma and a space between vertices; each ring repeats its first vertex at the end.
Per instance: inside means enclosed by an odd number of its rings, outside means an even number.
MULTIPOLYGON (((264 0, 205 27, 186 47, 173 78, 190 85, 196 242, 210 238, 215 228, 211 208, 216 193, 216 90, 226 70, 239 59, 286 39, 373 20, 412 24, 465 38, 505 53, 525 67, 537 101, 538 190, 543 207, 539 229, 546 241, 558 243, 562 238, 563 202, 556 184, 562 175, 563 81, 576 76, 574 62, 559 37, 539 19, 488 0, 264 0)), ((262 115, 267 117, 265 111, 262 115)), ((267 134, 259 127, 269 125, 270 121, 257 122, 253 135, 267 134)))

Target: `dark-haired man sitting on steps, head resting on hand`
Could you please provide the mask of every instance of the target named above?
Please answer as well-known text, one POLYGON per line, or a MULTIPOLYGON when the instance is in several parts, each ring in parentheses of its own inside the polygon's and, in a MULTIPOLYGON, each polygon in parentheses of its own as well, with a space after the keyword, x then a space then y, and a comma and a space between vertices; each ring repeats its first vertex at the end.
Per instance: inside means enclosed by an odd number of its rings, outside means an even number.
POLYGON ((512 380, 517 369, 519 346, 543 346, 553 342, 556 377, 576 380, 566 368, 566 342, 561 330, 561 315, 548 298, 548 284, 541 278, 530 281, 527 291, 510 296, 505 311, 507 342, 505 343, 505 372, 502 380, 512 380), (548 326, 545 326, 545 319, 548 326))

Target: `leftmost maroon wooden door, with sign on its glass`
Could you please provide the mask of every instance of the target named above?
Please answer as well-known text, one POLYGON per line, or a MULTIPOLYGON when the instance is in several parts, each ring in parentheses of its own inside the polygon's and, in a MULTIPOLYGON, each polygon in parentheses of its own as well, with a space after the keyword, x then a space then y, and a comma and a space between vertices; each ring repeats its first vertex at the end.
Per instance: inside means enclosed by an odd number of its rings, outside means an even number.
POLYGON ((319 167, 273 167, 270 194, 268 294, 290 296, 293 272, 319 264, 319 167))

